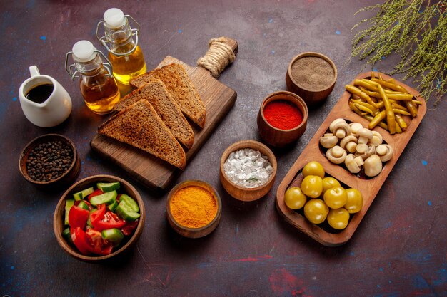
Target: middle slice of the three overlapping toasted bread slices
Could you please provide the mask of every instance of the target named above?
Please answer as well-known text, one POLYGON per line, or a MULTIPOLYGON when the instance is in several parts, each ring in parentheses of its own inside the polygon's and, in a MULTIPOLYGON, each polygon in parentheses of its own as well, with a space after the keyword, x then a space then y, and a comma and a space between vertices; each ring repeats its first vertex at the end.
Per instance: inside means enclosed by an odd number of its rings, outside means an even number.
POLYGON ((148 100, 163 123, 169 127, 172 135, 185 147, 191 148, 194 143, 194 132, 164 83, 159 79, 150 80, 143 87, 121 98, 119 103, 114 106, 114 110, 123 110, 141 99, 148 100))

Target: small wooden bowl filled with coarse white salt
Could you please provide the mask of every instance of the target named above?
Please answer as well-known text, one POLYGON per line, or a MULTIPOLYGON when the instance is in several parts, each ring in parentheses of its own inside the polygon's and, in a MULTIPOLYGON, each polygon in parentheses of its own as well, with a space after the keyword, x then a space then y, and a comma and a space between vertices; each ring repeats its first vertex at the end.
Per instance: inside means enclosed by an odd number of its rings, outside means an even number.
POLYGON ((241 201, 265 196, 276 177, 276 157, 256 140, 241 140, 222 154, 219 177, 228 194, 241 201))

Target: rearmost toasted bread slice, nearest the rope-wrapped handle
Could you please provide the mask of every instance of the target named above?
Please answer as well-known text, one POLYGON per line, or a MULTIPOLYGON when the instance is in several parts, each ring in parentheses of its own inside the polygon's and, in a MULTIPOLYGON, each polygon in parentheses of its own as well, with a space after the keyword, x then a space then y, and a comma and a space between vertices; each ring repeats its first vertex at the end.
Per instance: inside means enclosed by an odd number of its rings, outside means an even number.
POLYGON ((133 78, 130 84, 136 88, 141 88, 154 78, 159 78, 163 81, 172 98, 174 98, 187 118, 191 119, 199 127, 205 126, 205 105, 183 66, 172 63, 157 68, 154 71, 133 78))

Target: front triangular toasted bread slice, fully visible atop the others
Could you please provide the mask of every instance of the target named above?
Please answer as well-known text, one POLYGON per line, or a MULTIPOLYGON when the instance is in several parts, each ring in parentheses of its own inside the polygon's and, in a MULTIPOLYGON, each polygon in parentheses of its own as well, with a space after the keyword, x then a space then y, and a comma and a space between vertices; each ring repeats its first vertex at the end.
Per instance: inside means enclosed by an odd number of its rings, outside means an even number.
POLYGON ((148 100, 139 100, 106 120, 100 135, 127 143, 184 170, 186 155, 148 100))

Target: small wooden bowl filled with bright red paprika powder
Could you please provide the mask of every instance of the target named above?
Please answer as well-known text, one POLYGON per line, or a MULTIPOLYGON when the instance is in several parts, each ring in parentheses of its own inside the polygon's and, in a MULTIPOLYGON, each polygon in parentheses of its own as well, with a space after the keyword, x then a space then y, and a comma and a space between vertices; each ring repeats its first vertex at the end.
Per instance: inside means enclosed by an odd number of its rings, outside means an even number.
POLYGON ((278 91, 265 98, 258 112, 258 130, 265 142, 284 147, 306 131, 308 108, 300 96, 278 91))

